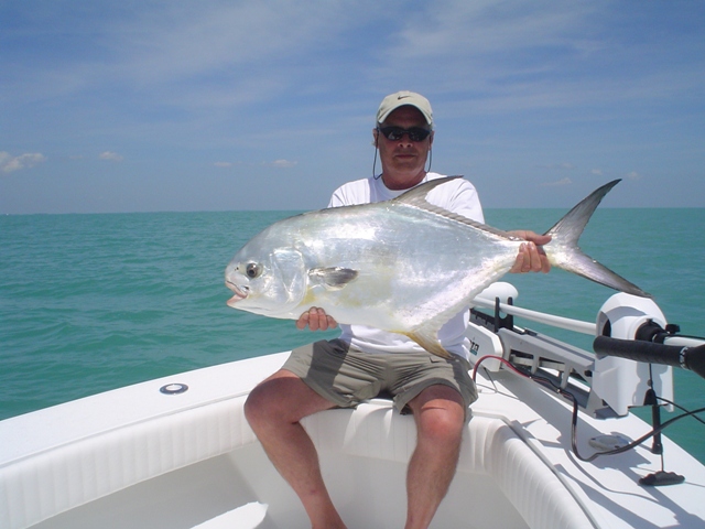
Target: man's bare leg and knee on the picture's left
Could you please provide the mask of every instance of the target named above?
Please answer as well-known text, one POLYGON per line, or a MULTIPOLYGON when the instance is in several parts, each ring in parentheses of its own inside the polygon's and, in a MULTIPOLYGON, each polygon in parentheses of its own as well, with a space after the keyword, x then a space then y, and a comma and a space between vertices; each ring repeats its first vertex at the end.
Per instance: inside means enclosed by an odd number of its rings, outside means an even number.
POLYGON ((334 406, 283 369, 256 387, 245 403, 250 427, 301 499, 314 529, 345 525, 323 483, 316 449, 300 421, 334 406))

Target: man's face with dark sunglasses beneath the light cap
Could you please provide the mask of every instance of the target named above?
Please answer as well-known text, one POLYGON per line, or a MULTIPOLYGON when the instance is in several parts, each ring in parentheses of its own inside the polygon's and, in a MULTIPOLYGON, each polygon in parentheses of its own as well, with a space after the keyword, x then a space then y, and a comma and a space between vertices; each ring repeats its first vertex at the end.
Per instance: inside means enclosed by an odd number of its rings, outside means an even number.
MULTIPOLYGON (((400 107, 390 114, 382 127, 427 129, 429 123, 417 108, 408 106, 400 107)), ((377 130, 373 133, 379 148, 384 183, 388 186, 392 184, 391 188, 403 188, 400 185, 409 184, 411 186, 421 182, 425 174, 424 168, 429 150, 433 143, 433 132, 423 141, 411 141, 409 134, 404 134, 400 140, 388 140, 377 130)))

